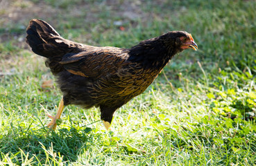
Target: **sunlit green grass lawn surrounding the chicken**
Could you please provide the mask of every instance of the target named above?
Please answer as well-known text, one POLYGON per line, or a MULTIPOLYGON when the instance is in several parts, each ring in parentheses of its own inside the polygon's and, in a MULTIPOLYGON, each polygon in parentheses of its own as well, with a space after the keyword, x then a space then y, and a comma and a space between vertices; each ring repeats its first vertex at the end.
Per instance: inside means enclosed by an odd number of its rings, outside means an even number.
POLYGON ((256 1, 2 5, 0 165, 255 165, 256 1), (142 95, 114 114, 111 131, 98 109, 69 106, 49 132, 45 112, 56 112, 61 93, 43 86, 54 77, 24 42, 24 27, 34 17, 65 38, 95 46, 131 47, 187 30, 199 50, 174 57, 142 95))

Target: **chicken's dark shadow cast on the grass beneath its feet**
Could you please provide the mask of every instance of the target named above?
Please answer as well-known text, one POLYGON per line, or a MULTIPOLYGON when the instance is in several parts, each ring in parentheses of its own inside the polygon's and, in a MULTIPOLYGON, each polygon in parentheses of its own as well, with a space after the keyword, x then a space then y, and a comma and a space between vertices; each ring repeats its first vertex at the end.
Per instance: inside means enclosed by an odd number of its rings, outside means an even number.
POLYGON ((22 129, 21 126, 12 127, 0 139, 0 159, 3 154, 12 156, 12 163, 21 164, 22 155, 28 158, 40 158, 40 163, 45 163, 47 158, 56 160, 76 161, 80 149, 87 149, 96 136, 91 128, 59 129, 57 132, 42 128, 37 131, 22 129), (44 158, 44 160, 42 160, 44 158))

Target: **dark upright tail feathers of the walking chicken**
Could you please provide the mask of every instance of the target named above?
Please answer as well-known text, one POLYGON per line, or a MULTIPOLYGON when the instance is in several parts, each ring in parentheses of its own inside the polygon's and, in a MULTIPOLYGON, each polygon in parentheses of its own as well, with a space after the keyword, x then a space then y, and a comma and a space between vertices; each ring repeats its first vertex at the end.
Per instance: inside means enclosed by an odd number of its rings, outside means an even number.
POLYGON ((26 29, 26 43, 31 46, 34 53, 47 57, 46 66, 51 68, 53 74, 62 71, 58 62, 67 53, 76 53, 81 44, 60 37, 46 21, 32 19, 26 29))

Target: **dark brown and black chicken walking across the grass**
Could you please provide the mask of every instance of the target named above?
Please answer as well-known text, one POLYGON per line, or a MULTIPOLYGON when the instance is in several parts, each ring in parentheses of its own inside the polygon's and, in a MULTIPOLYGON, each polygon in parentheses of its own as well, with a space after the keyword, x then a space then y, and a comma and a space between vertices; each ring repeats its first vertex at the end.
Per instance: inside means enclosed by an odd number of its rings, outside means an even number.
POLYGON ((187 48, 198 48, 185 31, 171 31, 132 48, 72 42, 40 19, 32 19, 26 33, 27 44, 34 53, 46 57, 46 66, 56 75, 63 93, 56 116, 49 116, 51 129, 56 129, 56 120, 69 104, 99 107, 108 129, 114 111, 144 92, 171 57, 187 48))

